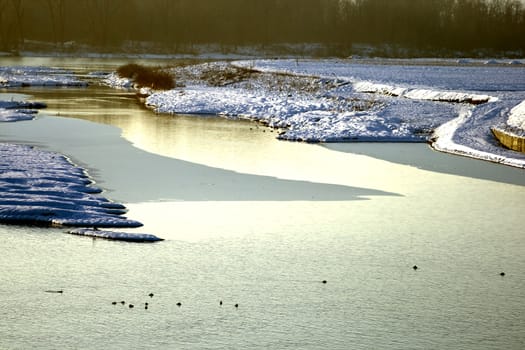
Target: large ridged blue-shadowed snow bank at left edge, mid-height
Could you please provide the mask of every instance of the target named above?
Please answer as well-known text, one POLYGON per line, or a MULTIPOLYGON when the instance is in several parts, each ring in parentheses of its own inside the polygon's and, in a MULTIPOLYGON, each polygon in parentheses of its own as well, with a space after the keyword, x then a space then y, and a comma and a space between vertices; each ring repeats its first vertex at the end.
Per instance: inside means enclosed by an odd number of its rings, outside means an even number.
POLYGON ((58 226, 138 227, 125 208, 99 195, 66 157, 0 143, 0 222, 58 226))

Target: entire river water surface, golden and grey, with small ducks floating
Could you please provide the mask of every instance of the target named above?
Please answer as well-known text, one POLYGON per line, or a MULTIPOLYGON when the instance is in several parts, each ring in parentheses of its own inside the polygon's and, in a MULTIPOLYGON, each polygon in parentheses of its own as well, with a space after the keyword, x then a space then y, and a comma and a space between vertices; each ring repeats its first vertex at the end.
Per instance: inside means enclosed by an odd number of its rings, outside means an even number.
POLYGON ((48 108, 0 141, 66 154, 166 240, 0 225, 0 348, 525 347, 523 170, 20 92, 48 108))

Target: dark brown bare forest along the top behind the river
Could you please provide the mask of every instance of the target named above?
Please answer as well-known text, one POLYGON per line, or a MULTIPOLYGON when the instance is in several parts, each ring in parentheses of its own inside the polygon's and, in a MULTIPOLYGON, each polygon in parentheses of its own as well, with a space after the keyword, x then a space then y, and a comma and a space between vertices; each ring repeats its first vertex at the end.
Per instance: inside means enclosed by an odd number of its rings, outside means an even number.
MULTIPOLYGON (((194 45, 357 45, 418 52, 525 52, 520 0, 0 0, 0 50, 141 49, 194 45), (143 47, 143 46, 142 46, 143 47)), ((291 46, 292 47, 292 46, 291 46)), ((391 52, 390 52, 391 53, 391 52)))

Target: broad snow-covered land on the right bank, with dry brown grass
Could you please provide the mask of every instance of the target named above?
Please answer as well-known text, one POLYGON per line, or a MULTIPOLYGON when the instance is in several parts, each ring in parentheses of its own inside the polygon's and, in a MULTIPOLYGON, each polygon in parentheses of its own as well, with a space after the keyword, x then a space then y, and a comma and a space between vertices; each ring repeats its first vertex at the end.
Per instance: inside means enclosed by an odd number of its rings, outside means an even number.
MULTIPOLYGON (((490 131, 525 100, 522 65, 250 60, 173 73, 183 87, 146 99, 159 113, 253 119, 281 129, 284 140, 432 141, 444 152, 525 167, 525 155, 490 131)), ((512 125, 525 119, 512 115, 512 125)))

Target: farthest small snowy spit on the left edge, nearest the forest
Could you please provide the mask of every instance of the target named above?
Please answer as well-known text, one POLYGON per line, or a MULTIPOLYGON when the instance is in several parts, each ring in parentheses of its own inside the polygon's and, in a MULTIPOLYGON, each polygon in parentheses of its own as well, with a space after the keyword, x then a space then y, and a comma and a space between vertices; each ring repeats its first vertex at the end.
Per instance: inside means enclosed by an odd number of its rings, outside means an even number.
POLYGON ((87 82, 63 69, 47 67, 0 67, 0 87, 87 86, 87 82))

